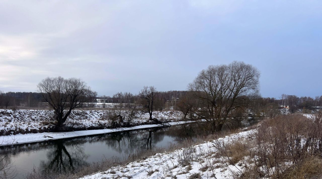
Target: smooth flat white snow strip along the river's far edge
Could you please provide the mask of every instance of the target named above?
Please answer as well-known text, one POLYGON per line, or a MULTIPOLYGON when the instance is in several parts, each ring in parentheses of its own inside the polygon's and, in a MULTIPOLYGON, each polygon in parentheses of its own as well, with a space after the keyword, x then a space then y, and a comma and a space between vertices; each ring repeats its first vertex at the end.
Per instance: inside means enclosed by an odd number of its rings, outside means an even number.
MULTIPOLYGON (((170 122, 170 125, 178 125, 185 123, 193 123, 195 121, 178 121, 170 122)), ((94 134, 105 134, 112 132, 120 132, 127 130, 143 129, 150 127, 158 127, 160 124, 147 124, 147 125, 138 125, 134 127, 125 127, 125 128, 114 128, 114 129, 97 129, 97 130, 85 130, 85 131, 71 131, 71 132, 44 132, 44 133, 35 133, 35 134, 17 134, 17 135, 7 135, 0 136, 0 146, 11 145, 11 144, 23 144, 23 143, 32 143, 40 142, 47 140, 63 139, 70 137, 79 137, 85 135, 94 135, 94 134)))

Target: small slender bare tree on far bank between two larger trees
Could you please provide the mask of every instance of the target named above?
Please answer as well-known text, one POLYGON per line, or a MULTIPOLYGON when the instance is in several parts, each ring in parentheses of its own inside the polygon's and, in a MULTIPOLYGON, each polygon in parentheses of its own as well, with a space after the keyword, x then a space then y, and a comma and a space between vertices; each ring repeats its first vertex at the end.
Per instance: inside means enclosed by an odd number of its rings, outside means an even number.
POLYGON ((144 86, 141 92, 138 94, 141 99, 141 109, 140 111, 144 113, 149 113, 149 120, 152 121, 152 113, 153 113, 153 98, 156 92, 156 88, 154 86, 144 86))

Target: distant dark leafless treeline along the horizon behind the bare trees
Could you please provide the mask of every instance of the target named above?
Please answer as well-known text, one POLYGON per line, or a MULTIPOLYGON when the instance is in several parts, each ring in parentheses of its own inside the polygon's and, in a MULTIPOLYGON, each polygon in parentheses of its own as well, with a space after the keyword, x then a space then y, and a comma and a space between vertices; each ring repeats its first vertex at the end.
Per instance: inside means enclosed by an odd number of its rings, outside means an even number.
MULTIPOLYGON (((178 109, 177 104, 181 99, 185 98, 188 91, 158 91, 155 93, 154 108, 155 110, 162 111, 169 109, 178 109)), ((116 93, 113 96, 92 96, 92 103, 117 103, 117 104, 137 104, 139 103, 138 96, 132 93, 116 93)), ((0 107, 1 108, 14 108, 19 106, 24 107, 43 107, 45 101, 40 93, 33 92, 1 92, 0 91, 0 107)), ((270 97, 257 97, 251 106, 253 108, 278 108, 279 105, 289 107, 290 112, 297 110, 315 110, 322 106, 322 95, 316 97, 282 94, 279 99, 270 97)), ((93 104, 87 104, 85 107, 92 107, 93 104)))

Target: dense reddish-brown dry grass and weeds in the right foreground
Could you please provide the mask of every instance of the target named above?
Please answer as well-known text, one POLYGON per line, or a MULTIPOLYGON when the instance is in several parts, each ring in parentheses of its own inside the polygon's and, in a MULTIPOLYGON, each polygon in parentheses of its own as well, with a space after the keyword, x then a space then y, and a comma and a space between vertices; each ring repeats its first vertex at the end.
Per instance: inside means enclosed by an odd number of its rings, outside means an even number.
POLYGON ((289 114, 265 120, 255 142, 254 166, 241 178, 304 179, 322 171, 322 113, 310 119, 289 114))

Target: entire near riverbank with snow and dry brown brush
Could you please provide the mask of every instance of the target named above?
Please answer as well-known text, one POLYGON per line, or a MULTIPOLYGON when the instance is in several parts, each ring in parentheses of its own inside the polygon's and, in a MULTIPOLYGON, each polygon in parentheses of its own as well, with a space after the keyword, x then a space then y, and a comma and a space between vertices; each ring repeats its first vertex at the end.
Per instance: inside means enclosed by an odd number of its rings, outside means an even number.
POLYGON ((321 178, 321 119, 321 114, 309 118, 279 115, 252 129, 157 153, 80 179, 321 178))

